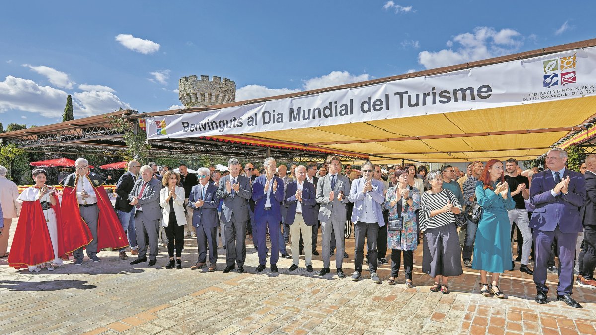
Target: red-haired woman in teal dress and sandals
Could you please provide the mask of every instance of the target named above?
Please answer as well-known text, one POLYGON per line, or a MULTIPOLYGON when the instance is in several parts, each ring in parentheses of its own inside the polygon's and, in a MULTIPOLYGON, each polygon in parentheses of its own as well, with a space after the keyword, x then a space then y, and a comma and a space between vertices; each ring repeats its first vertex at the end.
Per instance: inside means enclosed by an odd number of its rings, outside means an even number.
POLYGON ((499 290, 499 275, 511 269, 511 240, 508 210, 516 207, 509 186, 505 182, 503 163, 491 159, 480 175, 476 185, 476 201, 482 207, 482 217, 478 222, 474 240, 472 268, 480 270, 480 292, 483 296, 505 298, 499 290), (489 287, 486 274, 492 273, 489 287))

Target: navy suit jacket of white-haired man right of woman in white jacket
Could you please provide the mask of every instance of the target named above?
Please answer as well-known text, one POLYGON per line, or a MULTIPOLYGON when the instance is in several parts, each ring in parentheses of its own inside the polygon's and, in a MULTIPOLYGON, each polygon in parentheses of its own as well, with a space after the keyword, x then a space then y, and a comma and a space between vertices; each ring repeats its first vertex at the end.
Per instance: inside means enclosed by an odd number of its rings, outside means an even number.
POLYGON ((194 185, 193 188, 191 188, 190 194, 188 195, 188 207, 193 209, 193 227, 196 228, 200 225, 203 225, 203 227, 206 228, 218 227, 219 198, 215 194, 218 188, 212 183, 208 182, 205 198, 203 198, 203 194, 201 194, 201 187, 203 187, 203 185, 200 183, 198 185, 194 185), (203 206, 194 206, 194 203, 196 203, 199 199, 203 199, 203 201, 205 201, 203 206))

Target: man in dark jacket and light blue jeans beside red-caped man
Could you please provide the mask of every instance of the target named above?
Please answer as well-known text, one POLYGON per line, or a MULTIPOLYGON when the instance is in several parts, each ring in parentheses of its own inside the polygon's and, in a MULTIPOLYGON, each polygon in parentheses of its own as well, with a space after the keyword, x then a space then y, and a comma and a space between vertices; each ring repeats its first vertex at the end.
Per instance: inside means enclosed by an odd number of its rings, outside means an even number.
MULTIPOLYGON (((118 179, 116 189, 114 190, 117 194, 116 197, 116 213, 122 229, 128 237, 128 244, 131 245, 131 255, 138 255, 139 247, 136 245, 136 232, 135 232, 135 206, 132 206, 131 201, 128 200, 128 195, 131 193, 132 188, 135 186, 136 175, 139 173, 141 164, 136 160, 128 162, 128 171, 124 173, 118 179)), ((118 250, 120 252, 120 259, 128 259, 126 256, 126 247, 118 250)))

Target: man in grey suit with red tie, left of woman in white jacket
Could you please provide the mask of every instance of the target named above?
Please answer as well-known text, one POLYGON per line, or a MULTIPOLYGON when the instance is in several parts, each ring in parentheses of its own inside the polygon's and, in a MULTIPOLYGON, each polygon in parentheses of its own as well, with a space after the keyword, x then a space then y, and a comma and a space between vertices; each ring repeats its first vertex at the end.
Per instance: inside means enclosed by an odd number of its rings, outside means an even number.
POLYGON ((159 206, 159 193, 162 190, 162 183, 153 178, 153 169, 151 166, 141 166, 141 179, 135 182, 131 193, 128 194, 128 200, 131 205, 136 207, 135 213, 135 231, 136 241, 139 246, 139 256, 131 262, 137 264, 147 260, 147 241, 149 239, 149 262, 147 266, 153 266, 157 262, 157 253, 159 245, 159 221, 162 219, 162 210, 159 206))

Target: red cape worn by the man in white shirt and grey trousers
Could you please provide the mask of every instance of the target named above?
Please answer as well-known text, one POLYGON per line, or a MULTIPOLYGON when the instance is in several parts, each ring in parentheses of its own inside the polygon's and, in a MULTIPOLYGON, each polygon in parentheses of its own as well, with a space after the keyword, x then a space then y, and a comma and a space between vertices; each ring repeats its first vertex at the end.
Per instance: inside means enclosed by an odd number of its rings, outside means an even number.
MULTIPOLYGON (((85 176, 88 178, 88 176, 85 176)), ((79 176, 76 177, 75 185, 77 185, 79 176)), ((103 185, 94 185, 91 182, 92 187, 95 190, 95 196, 97 196, 97 206, 99 209, 99 218, 97 220, 97 252, 100 252, 104 248, 119 249, 127 247, 128 238, 126 233, 122 229, 122 224, 114 211, 114 207, 111 205, 111 201, 108 198, 108 194, 105 191, 103 185)), ((62 220, 65 225, 77 226, 80 224, 87 224, 80 216, 79 211, 79 200, 76 197, 76 186, 69 187, 64 185, 64 191, 62 193, 62 220), (68 214, 67 214, 68 213, 68 214)), ((87 228, 89 229, 89 228, 87 228)))

